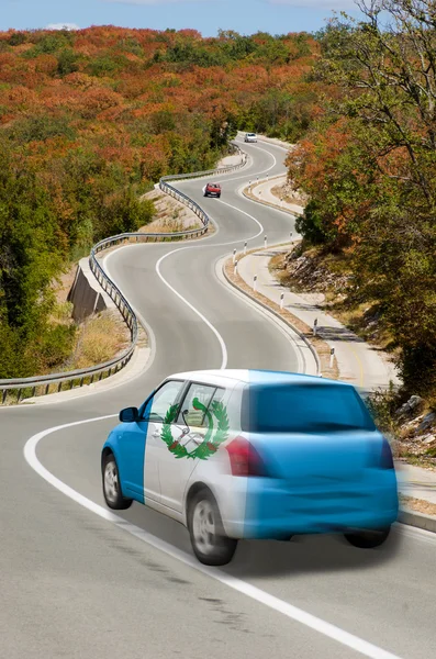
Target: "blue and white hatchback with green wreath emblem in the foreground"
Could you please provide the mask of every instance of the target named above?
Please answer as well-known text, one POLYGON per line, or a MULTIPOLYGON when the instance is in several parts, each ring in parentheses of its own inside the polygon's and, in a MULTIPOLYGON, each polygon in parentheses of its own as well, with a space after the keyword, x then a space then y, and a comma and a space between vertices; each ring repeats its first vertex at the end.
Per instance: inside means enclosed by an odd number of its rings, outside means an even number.
POLYGON ((137 501, 180 522, 202 563, 230 562, 243 538, 340 533, 373 548, 396 520, 390 445, 349 383, 181 372, 120 422, 101 453, 108 506, 137 501))

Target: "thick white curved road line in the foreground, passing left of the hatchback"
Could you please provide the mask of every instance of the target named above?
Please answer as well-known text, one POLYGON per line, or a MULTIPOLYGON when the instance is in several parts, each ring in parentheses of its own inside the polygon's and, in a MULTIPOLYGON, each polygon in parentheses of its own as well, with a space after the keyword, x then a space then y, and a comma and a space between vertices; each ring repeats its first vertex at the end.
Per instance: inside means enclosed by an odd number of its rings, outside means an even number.
POLYGON ((292 604, 289 604, 288 602, 284 602, 283 600, 276 597, 275 595, 270 595, 269 593, 260 590, 259 588, 256 588, 255 585, 251 585, 250 583, 247 583, 246 581, 243 581, 242 579, 231 577, 217 568, 209 568, 206 566, 201 565, 193 557, 189 556, 185 551, 177 549, 169 543, 166 543, 165 540, 161 540, 160 538, 144 530, 143 528, 135 526, 134 524, 131 524, 130 522, 126 522, 125 520, 115 515, 114 513, 107 510, 105 507, 91 501, 87 496, 83 496, 82 494, 80 494, 79 492, 77 492, 76 490, 74 490, 72 488, 67 485, 66 483, 64 483, 62 480, 56 478, 51 471, 48 471, 48 469, 46 469, 40 462, 40 460, 36 456, 36 447, 37 447, 38 443, 41 442, 41 439, 43 439, 47 435, 51 435, 52 433, 55 433, 57 431, 62 431, 65 428, 70 428, 74 426, 83 425, 83 424, 88 424, 88 423, 93 423, 97 421, 103 421, 107 418, 113 418, 115 416, 116 416, 116 414, 110 414, 108 416, 87 418, 85 421, 76 421, 74 423, 66 423, 64 425, 59 425, 59 426, 55 426, 55 427, 42 431, 41 433, 37 433, 36 435, 33 435, 30 439, 27 439, 27 442, 24 446, 24 458, 25 458, 26 462, 30 465, 30 467, 32 467, 32 469, 34 471, 36 471, 36 473, 38 473, 51 485, 53 485, 54 488, 56 488, 57 490, 59 490, 60 492, 63 492, 64 494, 69 496, 69 499, 71 499, 72 501, 76 501, 76 503, 79 503, 80 505, 88 509, 96 515, 99 515, 103 520, 107 520, 107 522, 111 522, 119 528, 126 530, 128 534, 131 534, 132 536, 135 536, 143 543, 146 543, 147 545, 150 545, 155 549, 158 549, 158 550, 163 551, 164 554, 171 556, 176 560, 179 560, 183 565, 189 566, 190 568, 197 570, 198 572, 201 572, 202 574, 206 574, 208 577, 214 579, 215 581, 219 581, 220 583, 223 583, 224 585, 227 585, 228 588, 231 588, 239 593, 243 593, 244 595, 247 595, 247 597, 250 597, 251 600, 255 600, 255 601, 259 602, 260 604, 264 604, 265 606, 268 606, 269 608, 272 608, 273 611, 277 611, 278 613, 286 615, 287 617, 289 617, 292 621, 295 621, 298 623, 301 623, 302 625, 305 625, 306 627, 309 627, 310 629, 313 629, 314 632, 318 632, 320 634, 323 634, 324 636, 326 636, 327 638, 331 638, 332 640, 336 640, 337 643, 339 643, 343 646, 346 646, 353 650, 356 650, 357 652, 359 652, 360 655, 364 655, 365 657, 369 657, 370 659, 400 659, 396 655, 392 655, 392 652, 388 652, 387 650, 383 650, 383 649, 372 645, 371 643, 368 643, 368 641, 359 638, 358 636, 355 636, 354 634, 349 634, 348 632, 340 629, 340 627, 336 627, 335 625, 332 625, 331 623, 327 623, 327 622, 323 621, 322 618, 318 618, 318 617, 312 615, 311 613, 303 611, 302 608, 298 608, 297 606, 293 606, 292 604))

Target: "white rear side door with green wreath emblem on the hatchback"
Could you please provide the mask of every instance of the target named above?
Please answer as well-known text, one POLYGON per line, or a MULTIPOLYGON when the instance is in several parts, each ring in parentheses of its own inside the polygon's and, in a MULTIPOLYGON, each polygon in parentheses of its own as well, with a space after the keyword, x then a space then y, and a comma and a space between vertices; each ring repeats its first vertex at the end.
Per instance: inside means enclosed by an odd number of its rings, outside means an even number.
POLYGON ((224 392, 213 384, 190 382, 176 421, 167 427, 167 445, 159 457, 161 504, 178 514, 182 513, 183 494, 192 471, 208 456, 205 446, 213 439, 211 403, 221 400, 224 392))

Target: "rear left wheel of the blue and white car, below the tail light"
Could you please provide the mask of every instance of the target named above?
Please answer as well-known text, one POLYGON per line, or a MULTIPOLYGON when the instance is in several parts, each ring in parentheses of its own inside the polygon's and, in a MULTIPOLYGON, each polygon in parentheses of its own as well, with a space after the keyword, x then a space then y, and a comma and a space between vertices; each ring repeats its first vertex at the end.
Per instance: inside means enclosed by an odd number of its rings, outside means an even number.
POLYGON ((225 566, 235 551, 237 540, 225 535, 215 498, 203 488, 189 503, 188 529, 192 550, 205 566, 225 566))

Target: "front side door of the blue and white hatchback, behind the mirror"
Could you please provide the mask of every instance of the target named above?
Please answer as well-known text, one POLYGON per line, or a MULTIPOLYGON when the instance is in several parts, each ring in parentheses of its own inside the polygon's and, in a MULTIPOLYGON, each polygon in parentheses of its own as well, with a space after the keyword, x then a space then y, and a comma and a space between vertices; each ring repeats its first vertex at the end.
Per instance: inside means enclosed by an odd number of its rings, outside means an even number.
POLYGON ((144 503, 160 502, 159 460, 167 450, 161 439, 164 423, 168 412, 180 402, 186 382, 167 380, 146 401, 142 411, 142 423, 146 424, 146 448, 144 459, 143 495, 144 503))

